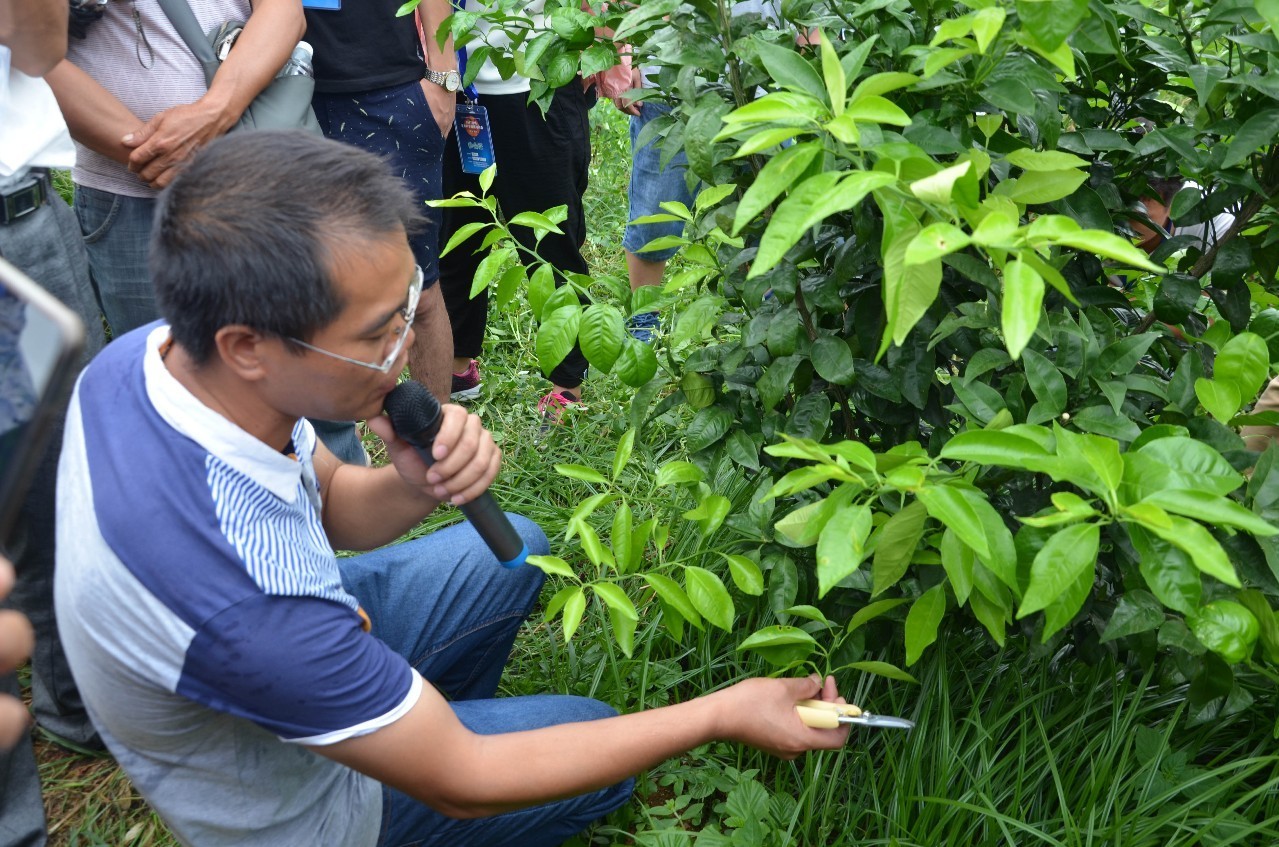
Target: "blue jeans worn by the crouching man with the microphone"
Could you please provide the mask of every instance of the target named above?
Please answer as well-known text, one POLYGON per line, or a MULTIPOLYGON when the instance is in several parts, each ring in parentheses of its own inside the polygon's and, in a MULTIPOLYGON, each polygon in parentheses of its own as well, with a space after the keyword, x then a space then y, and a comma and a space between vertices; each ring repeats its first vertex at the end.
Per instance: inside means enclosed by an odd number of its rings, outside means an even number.
MULTIPOLYGON (((536 523, 510 516, 530 553, 544 554, 536 523)), ((469 523, 339 562, 343 585, 368 613, 372 635, 408 659, 453 700, 472 732, 495 734, 616 714, 586 697, 496 697, 521 623, 537 600, 542 572, 498 564, 469 523)), ((532 809, 457 820, 382 789, 379 847, 420 844, 559 844, 631 797, 632 780, 532 809)))

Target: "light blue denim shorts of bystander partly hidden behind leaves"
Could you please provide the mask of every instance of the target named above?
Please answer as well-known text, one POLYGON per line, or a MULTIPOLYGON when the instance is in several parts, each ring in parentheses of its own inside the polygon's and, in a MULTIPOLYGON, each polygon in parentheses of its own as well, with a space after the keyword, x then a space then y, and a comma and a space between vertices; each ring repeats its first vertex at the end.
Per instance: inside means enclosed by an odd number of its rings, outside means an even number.
MULTIPOLYGON (((627 215, 628 221, 632 221, 636 218, 661 212, 660 203, 668 201, 684 203, 689 209, 693 206, 696 192, 688 189, 688 183, 684 179, 684 175, 688 171, 688 157, 684 156, 684 151, 680 150, 675 154, 675 157, 666 164, 665 169, 663 169, 660 165, 660 143, 647 143, 643 147, 636 147, 636 141, 640 138, 640 133, 648 124, 648 122, 655 119, 657 115, 665 115, 669 113, 670 107, 666 105, 645 101, 640 104, 640 116, 631 118, 632 162, 631 211, 627 215)), ((700 188, 701 183, 698 183, 698 189, 700 188)), ((654 239, 661 238, 663 235, 682 235, 683 232, 684 225, 680 221, 669 221, 665 224, 628 223, 627 233, 622 238, 622 246, 627 249, 627 252, 634 253, 645 261, 664 262, 679 252, 679 248, 668 247, 664 249, 655 249, 652 252, 643 252, 643 246, 654 239)))

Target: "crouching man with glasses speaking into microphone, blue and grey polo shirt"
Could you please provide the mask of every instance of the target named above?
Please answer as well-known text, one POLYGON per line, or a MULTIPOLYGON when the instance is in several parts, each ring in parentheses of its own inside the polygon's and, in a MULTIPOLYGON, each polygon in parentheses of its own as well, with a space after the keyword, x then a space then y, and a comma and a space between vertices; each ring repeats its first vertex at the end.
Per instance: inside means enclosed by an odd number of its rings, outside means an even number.
POLYGON ((59 479, 67 654, 133 784, 201 847, 538 846, 712 738, 842 745, 794 710, 835 697, 816 679, 620 718, 495 697, 542 576, 499 567, 469 525, 335 557, 498 473, 462 407, 444 408, 430 468, 380 415, 412 344, 418 214, 381 160, 302 133, 219 139, 161 196, 168 322, 84 372, 59 479), (336 462, 307 416, 367 418, 389 464, 336 462))

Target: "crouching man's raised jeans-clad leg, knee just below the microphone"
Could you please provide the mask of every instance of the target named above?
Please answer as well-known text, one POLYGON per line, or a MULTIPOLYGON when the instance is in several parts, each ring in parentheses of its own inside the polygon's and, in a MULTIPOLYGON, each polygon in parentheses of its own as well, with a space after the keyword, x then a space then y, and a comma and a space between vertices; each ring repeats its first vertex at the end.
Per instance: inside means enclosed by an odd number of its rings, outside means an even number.
MULTIPOLYGON (((509 516, 531 554, 549 550, 536 523, 509 516)), ((491 697, 542 572, 504 568, 469 523, 339 560, 372 635, 451 700, 491 697)))

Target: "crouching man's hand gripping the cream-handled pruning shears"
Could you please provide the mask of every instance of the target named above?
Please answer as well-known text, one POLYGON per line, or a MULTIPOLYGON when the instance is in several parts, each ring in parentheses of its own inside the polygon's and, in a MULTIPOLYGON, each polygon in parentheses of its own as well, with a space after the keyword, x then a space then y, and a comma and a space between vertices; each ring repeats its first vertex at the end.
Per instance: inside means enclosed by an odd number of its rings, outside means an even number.
POLYGON ((707 695, 723 713, 723 738, 739 741, 781 759, 794 759, 810 750, 836 750, 848 740, 849 727, 813 729, 796 711, 801 700, 844 702, 835 678, 817 674, 801 679, 744 679, 730 688, 707 695))

